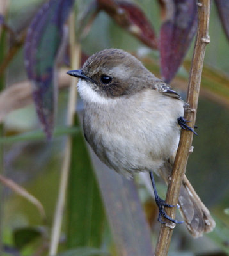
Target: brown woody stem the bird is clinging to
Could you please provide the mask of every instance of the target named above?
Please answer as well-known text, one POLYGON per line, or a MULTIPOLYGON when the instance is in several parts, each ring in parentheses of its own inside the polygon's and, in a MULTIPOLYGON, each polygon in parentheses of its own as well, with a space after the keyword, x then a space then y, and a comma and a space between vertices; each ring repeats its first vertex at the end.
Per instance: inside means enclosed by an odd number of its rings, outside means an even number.
MULTIPOLYGON (((200 92, 201 73, 203 69, 203 60, 205 55, 205 47, 209 40, 209 17, 210 17, 210 0, 198 0, 198 31, 193 53, 193 60, 189 76, 189 85, 187 91, 187 103, 189 108, 186 109, 184 117, 190 120, 191 127, 196 120, 196 109, 198 105, 198 97, 200 92)), ((168 186, 166 202, 168 204, 177 205, 180 186, 186 171, 189 150, 193 141, 193 133, 182 130, 180 143, 171 173, 171 181, 168 186)), ((175 207, 166 208, 166 213, 175 218, 175 207)), ((171 236, 173 233, 174 223, 166 220, 166 224, 161 225, 157 246, 155 250, 156 256, 166 256, 170 246, 171 236)))

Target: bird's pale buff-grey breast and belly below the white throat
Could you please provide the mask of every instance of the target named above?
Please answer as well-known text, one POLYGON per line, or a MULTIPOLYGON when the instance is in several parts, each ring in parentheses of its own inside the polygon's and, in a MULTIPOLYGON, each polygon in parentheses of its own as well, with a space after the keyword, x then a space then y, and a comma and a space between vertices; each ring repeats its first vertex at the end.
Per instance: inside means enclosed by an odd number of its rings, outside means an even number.
POLYGON ((97 156, 116 172, 157 172, 177 150, 177 118, 183 113, 180 100, 145 90, 113 104, 86 104, 84 133, 97 156))

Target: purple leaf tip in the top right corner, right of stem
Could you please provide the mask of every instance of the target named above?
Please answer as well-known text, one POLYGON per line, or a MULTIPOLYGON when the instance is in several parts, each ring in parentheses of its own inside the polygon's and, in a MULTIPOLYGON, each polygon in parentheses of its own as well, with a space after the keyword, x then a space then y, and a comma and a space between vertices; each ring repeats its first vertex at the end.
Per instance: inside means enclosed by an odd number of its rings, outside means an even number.
POLYGON ((226 37, 229 40, 229 1, 215 0, 215 3, 219 12, 219 17, 223 24, 223 29, 225 30, 226 37))

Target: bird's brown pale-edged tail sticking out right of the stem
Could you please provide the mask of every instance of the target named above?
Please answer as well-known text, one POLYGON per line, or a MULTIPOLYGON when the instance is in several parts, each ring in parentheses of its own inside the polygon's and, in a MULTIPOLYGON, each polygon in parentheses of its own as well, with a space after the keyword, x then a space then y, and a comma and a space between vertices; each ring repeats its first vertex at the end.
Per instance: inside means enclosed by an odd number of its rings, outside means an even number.
MULTIPOLYGON (((161 177, 168 183, 168 174, 166 175, 166 173, 168 173, 168 168, 162 168, 160 172, 161 177)), ((210 216, 209 210, 200 200, 196 191, 194 191, 186 175, 184 175, 180 188, 178 204, 180 205, 180 212, 187 229, 193 237, 200 237, 205 232, 211 232, 216 226, 215 221, 210 216)))

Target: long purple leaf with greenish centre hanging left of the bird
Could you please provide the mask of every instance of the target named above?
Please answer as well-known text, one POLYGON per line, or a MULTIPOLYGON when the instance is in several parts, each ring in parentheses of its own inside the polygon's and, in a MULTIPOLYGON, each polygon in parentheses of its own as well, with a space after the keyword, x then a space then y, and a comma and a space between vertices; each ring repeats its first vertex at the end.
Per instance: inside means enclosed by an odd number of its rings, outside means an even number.
POLYGON ((63 38, 63 25, 73 0, 50 0, 32 20, 25 43, 25 64, 31 79, 38 118, 48 139, 52 137, 57 101, 56 58, 63 38))

